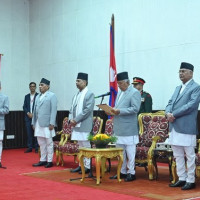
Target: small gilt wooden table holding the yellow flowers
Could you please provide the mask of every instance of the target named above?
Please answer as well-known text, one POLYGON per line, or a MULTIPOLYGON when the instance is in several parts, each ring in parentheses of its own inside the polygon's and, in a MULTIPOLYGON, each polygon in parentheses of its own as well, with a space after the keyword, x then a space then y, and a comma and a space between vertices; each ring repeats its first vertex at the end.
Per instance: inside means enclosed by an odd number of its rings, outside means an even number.
POLYGON ((106 159, 118 157, 119 161, 118 161, 118 167, 117 167, 117 180, 121 182, 120 170, 123 163, 123 149, 122 148, 105 148, 105 149, 80 148, 78 157, 79 157, 81 171, 82 171, 81 182, 83 182, 85 178, 85 168, 84 168, 84 163, 83 163, 84 157, 95 158, 97 185, 100 184, 100 168, 101 168, 101 176, 104 177, 106 159))

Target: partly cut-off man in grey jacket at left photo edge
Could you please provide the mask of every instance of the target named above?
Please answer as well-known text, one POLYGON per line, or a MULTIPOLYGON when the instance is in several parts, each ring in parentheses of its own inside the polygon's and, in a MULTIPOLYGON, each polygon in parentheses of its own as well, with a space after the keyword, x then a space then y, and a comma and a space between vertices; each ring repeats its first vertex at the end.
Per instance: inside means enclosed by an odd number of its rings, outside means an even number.
MULTIPOLYGON (((1 82, 0 82, 0 91, 1 91, 1 82)), ((3 135, 5 130, 5 115, 8 113, 9 113, 8 97, 0 93, 0 167, 2 167, 1 155, 3 149, 3 135)))

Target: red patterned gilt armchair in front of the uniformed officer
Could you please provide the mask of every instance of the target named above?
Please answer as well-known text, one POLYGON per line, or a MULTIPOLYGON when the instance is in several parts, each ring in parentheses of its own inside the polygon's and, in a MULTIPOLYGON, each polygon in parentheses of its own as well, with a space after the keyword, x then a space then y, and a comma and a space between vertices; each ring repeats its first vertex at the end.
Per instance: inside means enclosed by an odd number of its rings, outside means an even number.
POLYGON ((139 144, 136 147, 136 166, 148 169, 149 179, 154 178, 153 150, 157 142, 168 138, 168 121, 163 113, 141 113, 138 116, 140 125, 139 144))

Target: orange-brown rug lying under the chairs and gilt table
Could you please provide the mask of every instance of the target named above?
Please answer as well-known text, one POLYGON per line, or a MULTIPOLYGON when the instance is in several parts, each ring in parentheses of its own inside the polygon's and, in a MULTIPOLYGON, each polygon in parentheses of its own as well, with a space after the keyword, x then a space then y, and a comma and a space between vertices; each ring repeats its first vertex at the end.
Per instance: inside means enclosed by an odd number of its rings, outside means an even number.
MULTIPOLYGON (((84 183, 80 180, 70 181, 70 178, 78 178, 81 175, 77 173, 70 173, 70 169, 36 172, 24 174, 40 179, 51 180, 55 182, 71 183, 85 187, 91 187, 93 189, 100 189, 111 191, 120 194, 126 194, 133 197, 140 197, 145 199, 159 199, 159 200, 180 200, 180 199, 200 199, 200 183, 196 180, 196 189, 190 191, 182 191, 180 188, 170 188, 169 184, 169 171, 167 166, 159 166, 159 178, 157 181, 149 181, 148 174, 144 168, 136 168, 136 180, 133 182, 118 183, 117 180, 110 180, 109 176, 112 176, 116 172, 116 166, 112 166, 112 172, 106 173, 105 177, 101 180, 101 184, 96 185, 96 181, 91 178, 86 178, 84 183)), ((95 169, 94 169, 95 175, 95 169)), ((134 199, 134 198, 133 198, 134 199)))

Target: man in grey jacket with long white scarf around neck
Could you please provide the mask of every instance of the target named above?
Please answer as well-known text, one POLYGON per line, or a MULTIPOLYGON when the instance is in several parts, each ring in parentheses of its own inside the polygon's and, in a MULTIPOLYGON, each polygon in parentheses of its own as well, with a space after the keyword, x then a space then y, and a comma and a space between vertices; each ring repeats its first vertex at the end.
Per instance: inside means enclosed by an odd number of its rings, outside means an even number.
MULTIPOLYGON (((79 147, 90 148, 88 135, 92 130, 93 109, 94 109, 94 94, 88 90, 88 74, 78 73, 76 86, 79 92, 73 97, 72 106, 70 109, 69 120, 74 127, 71 140, 77 140, 79 147)), ((84 158, 85 173, 90 171, 90 159, 84 158)), ((72 173, 81 173, 80 165, 71 170, 72 173)))

